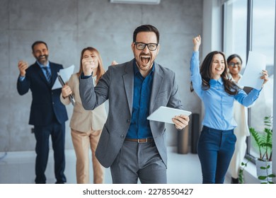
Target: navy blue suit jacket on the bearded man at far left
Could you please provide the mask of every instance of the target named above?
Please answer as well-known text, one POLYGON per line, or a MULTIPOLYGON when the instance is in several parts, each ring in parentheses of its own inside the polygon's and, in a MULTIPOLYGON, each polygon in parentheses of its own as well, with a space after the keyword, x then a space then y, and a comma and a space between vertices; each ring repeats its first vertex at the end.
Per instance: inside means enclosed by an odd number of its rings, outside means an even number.
POLYGON ((17 91, 24 95, 30 89, 33 101, 30 107, 29 124, 35 126, 47 126, 51 124, 54 117, 57 122, 62 123, 68 120, 66 107, 61 103, 59 96, 61 88, 52 90, 54 81, 57 78, 59 69, 63 69, 62 64, 50 62, 52 72, 52 82, 49 84, 40 66, 35 62, 26 69, 25 79, 17 81, 17 91))

